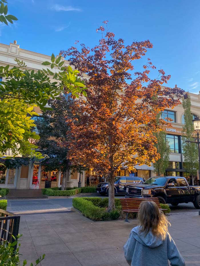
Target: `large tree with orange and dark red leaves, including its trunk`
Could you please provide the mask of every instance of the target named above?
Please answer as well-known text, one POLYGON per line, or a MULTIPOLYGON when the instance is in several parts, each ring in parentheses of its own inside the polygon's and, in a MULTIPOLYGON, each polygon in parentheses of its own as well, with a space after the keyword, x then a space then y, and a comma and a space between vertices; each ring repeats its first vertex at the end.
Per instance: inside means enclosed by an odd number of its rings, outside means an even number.
POLYGON ((87 74, 87 98, 74 101, 73 112, 79 119, 68 120, 72 141, 66 145, 75 164, 83 163, 106 176, 111 211, 115 170, 122 165, 130 170, 137 164, 150 165, 159 158, 153 133, 167 122, 160 119, 158 124, 157 113, 178 105, 184 91, 161 87, 170 78, 163 70, 158 70, 157 79, 150 79, 155 66, 149 58, 143 72, 134 71, 133 61, 153 46, 149 40, 125 46, 123 39, 116 40, 103 26, 97 32, 102 38, 94 48, 81 44, 80 50, 61 51, 82 78, 87 74))

